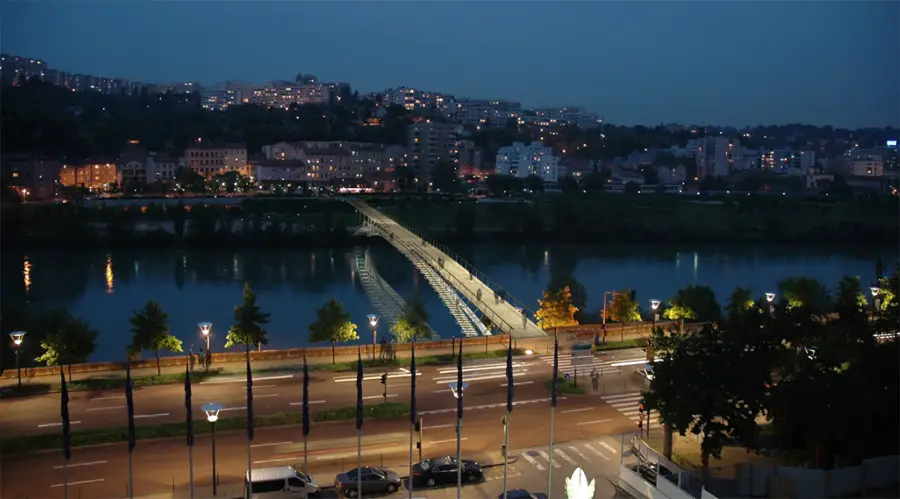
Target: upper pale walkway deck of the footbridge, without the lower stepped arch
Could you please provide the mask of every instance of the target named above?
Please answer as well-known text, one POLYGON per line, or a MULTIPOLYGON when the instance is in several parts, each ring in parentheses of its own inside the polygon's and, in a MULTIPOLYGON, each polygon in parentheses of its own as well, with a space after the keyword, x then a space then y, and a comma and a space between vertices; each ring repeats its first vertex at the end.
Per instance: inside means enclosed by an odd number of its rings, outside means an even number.
POLYGON ((419 236, 413 234, 387 215, 360 200, 348 200, 363 216, 371 220, 387 235, 392 245, 403 245, 415 251, 447 282, 485 314, 501 331, 516 338, 544 336, 546 333, 516 307, 504 300, 498 300, 490 286, 472 275, 453 258, 419 236), (393 235, 393 237, 391 237, 393 235), (443 266, 440 262, 443 262, 443 266))

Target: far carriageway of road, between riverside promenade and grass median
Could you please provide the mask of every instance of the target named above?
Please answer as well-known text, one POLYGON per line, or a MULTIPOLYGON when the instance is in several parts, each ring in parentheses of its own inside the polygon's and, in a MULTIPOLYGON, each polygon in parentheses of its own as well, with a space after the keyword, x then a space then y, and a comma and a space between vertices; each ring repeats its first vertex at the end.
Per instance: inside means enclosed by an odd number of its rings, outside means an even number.
MULTIPOLYGON (((633 370, 639 365, 614 366, 618 363, 641 363, 640 349, 613 351, 598 355, 594 363, 605 374, 633 370)), ((560 353, 560 371, 571 371, 571 360, 560 353)), ((581 369, 581 368, 579 368, 581 369)), ((590 368, 588 367, 589 371, 590 368)), ((453 365, 423 366, 417 370, 417 401, 420 410, 451 408, 448 383, 456 381, 453 365)), ((505 359, 483 359, 466 362, 463 379, 469 384, 468 395, 473 403, 487 404, 505 400, 505 359)), ((544 383, 550 378, 552 356, 517 357, 514 362, 517 397, 537 397, 546 394, 544 383)), ((410 374, 401 369, 370 369, 365 373, 363 397, 366 403, 382 400, 384 385, 381 374, 387 372, 388 401, 409 400, 410 374)), ((311 411, 348 407, 356 404, 356 374, 310 373, 311 411)), ((584 382, 589 384, 585 376, 584 382)), ((246 384, 242 376, 214 378, 192 386, 194 417, 205 421, 200 406, 208 402, 222 404, 222 417, 246 413, 246 384)), ((69 415, 72 431, 125 426, 128 424, 123 390, 85 390, 69 394, 69 415)), ((139 387, 134 390, 135 423, 154 425, 184 420, 184 387, 181 384, 139 387)), ((302 374, 268 373, 254 377, 254 414, 299 412, 302 400, 302 374)), ((3 435, 55 433, 60 429, 60 399, 58 393, 14 397, 0 400, 3 435)))

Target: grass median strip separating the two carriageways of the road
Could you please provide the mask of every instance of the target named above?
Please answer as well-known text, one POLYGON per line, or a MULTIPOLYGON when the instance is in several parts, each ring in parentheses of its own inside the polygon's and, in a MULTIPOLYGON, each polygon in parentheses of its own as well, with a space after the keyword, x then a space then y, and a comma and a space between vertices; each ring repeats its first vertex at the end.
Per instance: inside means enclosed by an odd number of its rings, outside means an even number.
MULTIPOLYGON (((124 410, 124 409, 123 409, 124 410)), ((409 414, 409 404, 399 402, 379 403, 364 407, 364 415, 367 419, 397 419, 409 414)), ((356 419, 356 407, 341 407, 315 412, 311 415, 314 422, 349 421, 356 419)), ((299 412, 277 412, 256 416, 255 428, 272 426, 297 425, 301 423, 299 412)), ((216 423, 218 431, 240 430, 247 427, 246 417, 228 417, 219 419, 216 423)), ((138 426, 135 433, 138 440, 151 438, 180 437, 185 435, 185 423, 162 423, 153 426, 138 426)), ((212 425, 203 421, 194 421, 194 434, 203 435, 210 433, 212 425)), ((87 431, 73 431, 71 434, 72 447, 84 445, 109 444, 125 442, 128 440, 128 427, 102 428, 87 431)), ((62 448, 62 434, 50 433, 43 435, 27 435, 14 437, 2 441, 4 454, 25 454, 41 450, 62 448)))

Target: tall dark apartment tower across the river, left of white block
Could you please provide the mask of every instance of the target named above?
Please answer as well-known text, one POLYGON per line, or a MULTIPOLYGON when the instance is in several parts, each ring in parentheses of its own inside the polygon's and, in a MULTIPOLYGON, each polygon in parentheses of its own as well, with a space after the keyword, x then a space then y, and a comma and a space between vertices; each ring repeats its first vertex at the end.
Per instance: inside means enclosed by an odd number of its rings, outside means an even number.
POLYGON ((460 127, 454 123, 414 123, 406 130, 406 166, 421 181, 431 180, 432 169, 440 162, 459 162, 460 127))

